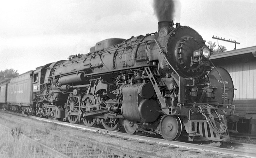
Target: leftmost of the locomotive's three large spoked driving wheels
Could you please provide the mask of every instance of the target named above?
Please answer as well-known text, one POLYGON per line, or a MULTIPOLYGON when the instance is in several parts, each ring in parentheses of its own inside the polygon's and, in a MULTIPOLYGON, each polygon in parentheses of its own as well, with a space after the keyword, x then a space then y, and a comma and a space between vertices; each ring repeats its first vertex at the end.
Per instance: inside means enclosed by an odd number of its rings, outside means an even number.
POLYGON ((76 124, 78 123, 78 116, 76 115, 71 115, 71 112, 76 112, 78 113, 78 108, 80 105, 78 96, 69 96, 67 99, 67 119, 71 124, 76 124))

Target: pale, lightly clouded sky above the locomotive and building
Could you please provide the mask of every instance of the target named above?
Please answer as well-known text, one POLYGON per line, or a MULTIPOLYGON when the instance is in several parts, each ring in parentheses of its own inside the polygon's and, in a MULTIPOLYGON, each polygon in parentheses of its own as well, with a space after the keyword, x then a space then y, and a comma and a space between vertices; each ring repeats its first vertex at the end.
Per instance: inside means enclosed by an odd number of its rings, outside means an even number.
MULTIPOLYGON (((177 0, 173 20, 239 49, 256 45, 255 8, 255 0, 177 0)), ((0 71, 22 74, 87 54, 104 39, 154 33, 157 22, 153 0, 0 0, 0 71)))

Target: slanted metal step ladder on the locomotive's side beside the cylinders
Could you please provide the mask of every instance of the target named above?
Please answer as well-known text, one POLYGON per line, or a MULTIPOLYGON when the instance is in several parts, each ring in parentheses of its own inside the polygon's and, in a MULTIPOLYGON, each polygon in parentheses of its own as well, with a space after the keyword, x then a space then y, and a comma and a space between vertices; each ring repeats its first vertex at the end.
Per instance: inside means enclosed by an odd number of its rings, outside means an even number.
POLYGON ((149 66, 145 67, 144 69, 147 72, 148 77, 149 77, 149 79, 150 79, 150 81, 151 81, 151 83, 154 87, 154 90, 156 92, 156 96, 159 99, 159 102, 160 102, 161 106, 163 108, 168 107, 167 104, 166 104, 166 99, 162 96, 162 93, 159 89, 159 86, 160 87, 165 87, 165 84, 162 81, 162 78, 161 78, 161 75, 159 74, 159 71, 157 70, 156 67, 153 67, 153 69, 151 71, 149 66))

